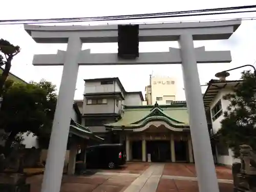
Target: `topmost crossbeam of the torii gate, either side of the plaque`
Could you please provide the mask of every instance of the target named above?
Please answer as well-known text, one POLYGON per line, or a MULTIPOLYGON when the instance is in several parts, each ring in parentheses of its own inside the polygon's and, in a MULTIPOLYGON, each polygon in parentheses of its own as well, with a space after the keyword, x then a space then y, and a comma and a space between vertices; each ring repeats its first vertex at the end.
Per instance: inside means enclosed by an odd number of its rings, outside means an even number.
MULTIPOLYGON (((228 39, 241 25, 241 19, 221 22, 188 22, 139 25, 139 41, 173 41, 184 33, 194 40, 228 39)), ((84 43, 117 42, 117 25, 105 26, 36 26, 25 25, 25 30, 38 43, 67 43, 71 35, 84 43)))

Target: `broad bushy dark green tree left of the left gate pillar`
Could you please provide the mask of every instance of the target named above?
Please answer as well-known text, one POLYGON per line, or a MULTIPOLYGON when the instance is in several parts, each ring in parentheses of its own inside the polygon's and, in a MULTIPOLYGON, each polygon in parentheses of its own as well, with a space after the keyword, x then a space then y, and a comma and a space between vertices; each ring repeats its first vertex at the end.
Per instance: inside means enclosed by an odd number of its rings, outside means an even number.
POLYGON ((14 84, 3 95, 0 129, 8 134, 5 154, 20 134, 50 135, 57 101, 56 87, 48 81, 14 84))

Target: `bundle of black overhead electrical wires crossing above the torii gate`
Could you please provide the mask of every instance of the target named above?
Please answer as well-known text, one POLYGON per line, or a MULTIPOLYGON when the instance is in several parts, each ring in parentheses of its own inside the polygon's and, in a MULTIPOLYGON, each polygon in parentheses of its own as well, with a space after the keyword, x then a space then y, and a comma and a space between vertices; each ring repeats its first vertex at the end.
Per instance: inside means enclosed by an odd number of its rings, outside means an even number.
MULTIPOLYGON (((189 10, 189 11, 174 11, 174 12, 133 14, 133 15, 114 15, 114 16, 101 16, 101 17, 8 19, 8 20, 0 20, 0 25, 102 22, 102 21, 114 21, 114 20, 134 20, 134 19, 138 20, 138 19, 206 16, 206 15, 235 14, 235 13, 252 13, 252 12, 256 12, 255 8, 256 8, 256 5, 250 5, 250 6, 225 7, 225 8, 214 8, 214 9, 199 9, 199 10, 189 10)), ((254 17, 246 17, 246 18, 254 18, 254 17)))

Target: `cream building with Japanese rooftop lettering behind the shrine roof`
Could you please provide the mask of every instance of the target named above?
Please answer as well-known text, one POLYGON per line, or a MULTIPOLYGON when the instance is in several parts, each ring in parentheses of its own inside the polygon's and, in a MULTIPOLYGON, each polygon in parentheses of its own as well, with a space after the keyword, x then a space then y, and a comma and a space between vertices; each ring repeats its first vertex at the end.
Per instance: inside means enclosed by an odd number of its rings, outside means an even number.
POLYGON ((152 104, 155 104, 156 101, 158 104, 166 104, 166 100, 176 100, 176 83, 176 79, 172 77, 153 76, 151 79, 152 104), (162 100, 157 100, 157 97, 162 97, 162 100))

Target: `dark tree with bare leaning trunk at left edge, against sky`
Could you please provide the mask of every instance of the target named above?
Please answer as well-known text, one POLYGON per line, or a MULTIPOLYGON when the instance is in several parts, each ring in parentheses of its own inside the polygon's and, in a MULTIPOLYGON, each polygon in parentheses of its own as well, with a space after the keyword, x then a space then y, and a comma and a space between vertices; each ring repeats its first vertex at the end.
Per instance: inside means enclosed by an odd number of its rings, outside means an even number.
POLYGON ((12 59, 19 52, 19 46, 10 44, 8 40, 0 39, 0 67, 5 66, 3 73, 0 75, 0 96, 3 95, 4 85, 11 69, 12 59))

